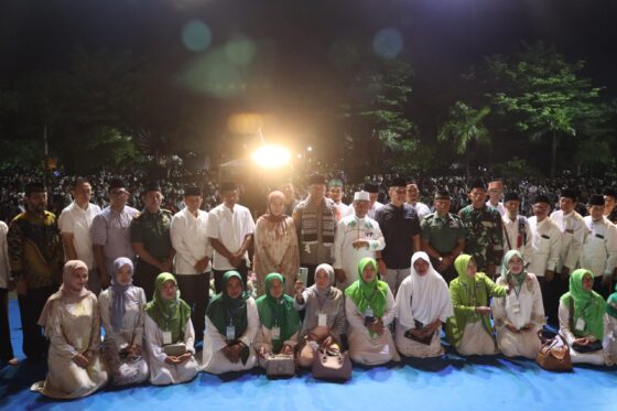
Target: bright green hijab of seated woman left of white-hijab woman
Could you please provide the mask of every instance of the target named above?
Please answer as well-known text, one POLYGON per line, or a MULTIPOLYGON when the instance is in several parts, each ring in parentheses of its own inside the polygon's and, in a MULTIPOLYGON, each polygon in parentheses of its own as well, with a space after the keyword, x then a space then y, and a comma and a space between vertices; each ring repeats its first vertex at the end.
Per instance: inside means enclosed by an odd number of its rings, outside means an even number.
POLYGON ((345 295, 358 307, 360 313, 365 313, 370 306, 376 317, 383 316, 388 306, 388 284, 377 279, 377 261, 370 257, 365 257, 358 263, 359 279, 345 290, 345 295), (375 270, 375 278, 371 282, 366 282, 362 272, 367 266, 375 270))

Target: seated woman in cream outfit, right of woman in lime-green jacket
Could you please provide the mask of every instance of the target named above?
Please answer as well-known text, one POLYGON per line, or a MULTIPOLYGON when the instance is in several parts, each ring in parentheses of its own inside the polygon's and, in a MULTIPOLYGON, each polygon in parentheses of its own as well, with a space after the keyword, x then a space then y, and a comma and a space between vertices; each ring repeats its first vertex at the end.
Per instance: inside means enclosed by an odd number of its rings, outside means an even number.
POLYGON ((506 296, 492 299, 497 346, 507 357, 534 359, 542 346, 538 332, 546 320, 538 278, 524 270, 522 255, 518 250, 510 250, 504 256, 497 284, 510 288, 506 296))

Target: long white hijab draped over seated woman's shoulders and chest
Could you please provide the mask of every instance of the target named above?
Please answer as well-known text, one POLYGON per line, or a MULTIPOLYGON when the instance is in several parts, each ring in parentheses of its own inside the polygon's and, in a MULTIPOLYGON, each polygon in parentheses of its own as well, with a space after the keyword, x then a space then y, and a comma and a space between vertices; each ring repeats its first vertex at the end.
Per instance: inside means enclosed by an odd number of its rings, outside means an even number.
POLYGON ((454 315, 447 283, 435 271, 426 252, 418 251, 411 257, 411 275, 403 280, 397 293, 397 317, 405 328, 415 328, 414 320, 427 325, 440 318, 445 323, 454 315), (420 275, 413 263, 422 259, 429 263, 429 272, 420 275))

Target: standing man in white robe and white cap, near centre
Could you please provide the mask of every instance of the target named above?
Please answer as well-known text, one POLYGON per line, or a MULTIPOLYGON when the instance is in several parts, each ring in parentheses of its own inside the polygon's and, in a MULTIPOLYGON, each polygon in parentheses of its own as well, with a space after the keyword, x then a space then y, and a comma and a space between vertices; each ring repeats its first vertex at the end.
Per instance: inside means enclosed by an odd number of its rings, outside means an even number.
POLYGON ((367 216, 370 197, 367 192, 354 194, 354 215, 338 221, 334 237, 334 273, 337 286, 345 291, 358 279, 358 263, 365 257, 376 258, 386 247, 379 224, 367 216))

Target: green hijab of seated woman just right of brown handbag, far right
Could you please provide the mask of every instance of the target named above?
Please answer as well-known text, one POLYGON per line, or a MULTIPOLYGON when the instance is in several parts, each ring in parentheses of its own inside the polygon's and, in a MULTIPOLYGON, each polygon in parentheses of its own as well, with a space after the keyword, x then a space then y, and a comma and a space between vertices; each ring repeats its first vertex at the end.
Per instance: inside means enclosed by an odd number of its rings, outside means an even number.
POLYGON ((583 278, 585 275, 594 277, 589 270, 574 270, 570 274, 570 291, 563 294, 560 301, 569 309, 570 302, 574 302, 574 313, 571 313, 573 324, 576 324, 578 318, 583 318, 585 322, 585 329, 572 329, 575 336, 584 337, 592 334, 602 342, 604 338, 604 311, 606 303, 602 295, 595 291, 583 289, 583 278))

